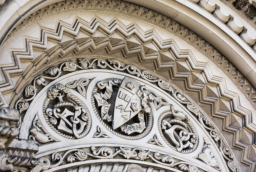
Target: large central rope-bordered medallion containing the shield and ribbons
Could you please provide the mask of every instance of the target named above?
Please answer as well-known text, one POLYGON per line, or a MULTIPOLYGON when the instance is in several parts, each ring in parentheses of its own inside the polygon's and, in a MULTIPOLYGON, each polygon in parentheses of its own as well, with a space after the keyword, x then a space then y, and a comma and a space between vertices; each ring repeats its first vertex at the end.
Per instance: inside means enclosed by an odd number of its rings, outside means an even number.
POLYGON ((125 139, 146 136, 153 122, 149 102, 154 96, 137 80, 107 79, 97 83, 91 102, 100 122, 112 133, 125 139))

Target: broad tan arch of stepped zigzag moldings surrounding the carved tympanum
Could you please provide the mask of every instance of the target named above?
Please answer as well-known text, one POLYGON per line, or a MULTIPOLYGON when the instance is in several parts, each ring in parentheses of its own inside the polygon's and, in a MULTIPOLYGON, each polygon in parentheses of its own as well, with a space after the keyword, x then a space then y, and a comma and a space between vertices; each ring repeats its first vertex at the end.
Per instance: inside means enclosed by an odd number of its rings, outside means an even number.
POLYGON ((240 170, 253 171, 256 90, 238 69, 200 36, 162 14, 122 1, 116 5, 116 1, 107 1, 108 4, 95 2, 65 1, 45 7, 25 19, 14 30, 16 33, 13 31, 9 35, 1 50, 10 49, 14 63, 0 65, 4 78, 0 83, 1 105, 14 107, 25 87, 50 66, 80 57, 119 59, 139 65, 185 92, 210 117, 215 128, 229 138, 240 170), (61 19, 54 23, 54 29, 47 28, 47 24, 42 22, 43 17, 50 18, 59 12, 88 8, 110 8, 112 12, 143 19, 147 22, 145 26, 158 26, 175 36, 163 38, 159 32, 162 29, 152 27, 145 30, 141 27, 144 22, 124 23, 121 16, 112 17, 114 13, 109 14, 112 18, 107 21, 97 14, 90 21, 78 16, 72 22, 61 19), (42 23, 35 26, 33 22, 39 21, 42 23), (40 32, 39 38, 24 34, 24 49, 9 44, 28 29, 40 32), (186 48, 181 46, 181 42, 186 48))

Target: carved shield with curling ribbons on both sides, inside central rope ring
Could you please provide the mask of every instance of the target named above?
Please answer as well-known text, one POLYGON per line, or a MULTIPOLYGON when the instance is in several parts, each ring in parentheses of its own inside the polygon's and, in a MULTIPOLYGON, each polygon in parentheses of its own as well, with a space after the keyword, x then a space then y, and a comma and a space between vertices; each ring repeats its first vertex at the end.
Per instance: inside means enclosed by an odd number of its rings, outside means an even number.
POLYGON ((112 129, 117 130, 119 127, 122 132, 130 135, 132 133, 142 133, 146 128, 144 120, 145 113, 150 113, 151 109, 148 102, 154 100, 153 95, 147 91, 145 85, 140 85, 136 80, 126 76, 120 84, 119 80, 100 81, 97 83, 98 88, 105 89, 104 93, 95 93, 98 107, 101 106, 102 119, 112 122, 112 129), (114 105, 108 103, 113 94, 113 85, 120 85, 117 90, 116 101, 114 105), (110 114, 110 106, 114 106, 114 113, 110 114), (136 122, 130 120, 137 116, 136 122), (129 122, 130 121, 130 122, 129 122), (129 123, 129 124, 128 124, 129 123))

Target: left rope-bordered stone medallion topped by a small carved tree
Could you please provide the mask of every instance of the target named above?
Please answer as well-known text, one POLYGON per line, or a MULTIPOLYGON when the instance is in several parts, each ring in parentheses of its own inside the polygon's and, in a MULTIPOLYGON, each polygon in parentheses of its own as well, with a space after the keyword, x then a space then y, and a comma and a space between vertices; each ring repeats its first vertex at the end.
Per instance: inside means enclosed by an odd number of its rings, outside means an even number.
POLYGON ((48 90, 43 113, 48 125, 69 139, 82 138, 91 128, 88 109, 61 83, 53 85, 48 90))

